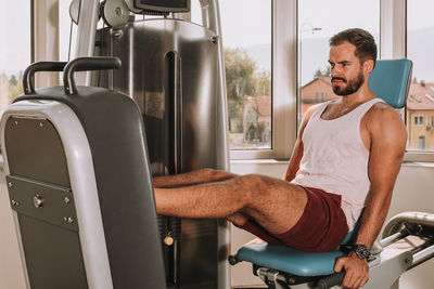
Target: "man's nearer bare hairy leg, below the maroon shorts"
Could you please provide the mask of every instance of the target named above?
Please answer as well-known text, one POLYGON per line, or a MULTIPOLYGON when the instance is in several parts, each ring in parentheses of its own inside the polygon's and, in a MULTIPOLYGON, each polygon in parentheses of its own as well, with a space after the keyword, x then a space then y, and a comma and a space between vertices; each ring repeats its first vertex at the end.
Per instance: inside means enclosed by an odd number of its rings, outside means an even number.
POLYGON ((272 234, 291 229, 307 201, 302 187, 253 174, 191 186, 156 187, 154 193, 158 214, 233 221, 235 216, 247 215, 272 234))

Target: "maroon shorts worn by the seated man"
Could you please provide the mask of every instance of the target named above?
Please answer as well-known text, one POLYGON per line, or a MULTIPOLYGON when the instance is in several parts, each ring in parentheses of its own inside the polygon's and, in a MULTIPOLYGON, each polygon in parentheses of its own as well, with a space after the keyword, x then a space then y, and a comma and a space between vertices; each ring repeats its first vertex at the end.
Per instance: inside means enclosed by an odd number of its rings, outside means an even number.
POLYGON ((328 252, 336 249, 348 233, 346 218, 341 209, 341 196, 318 188, 303 188, 307 194, 305 211, 286 233, 270 234, 253 219, 240 227, 268 244, 302 251, 328 252))

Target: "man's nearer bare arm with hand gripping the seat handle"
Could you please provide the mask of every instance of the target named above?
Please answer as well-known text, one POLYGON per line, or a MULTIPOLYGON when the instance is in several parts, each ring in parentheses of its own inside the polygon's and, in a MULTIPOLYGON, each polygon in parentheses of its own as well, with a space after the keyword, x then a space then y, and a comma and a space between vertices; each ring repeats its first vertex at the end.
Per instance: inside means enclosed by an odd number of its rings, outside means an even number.
MULTIPOLYGON (((370 135, 368 173, 371 187, 355 244, 371 248, 391 205, 392 192, 406 149, 407 132, 403 120, 392 107, 381 105, 366 117, 370 135)), ((343 287, 359 288, 368 280, 368 263, 354 252, 337 260, 335 271, 341 272, 342 268, 346 271, 343 287)))

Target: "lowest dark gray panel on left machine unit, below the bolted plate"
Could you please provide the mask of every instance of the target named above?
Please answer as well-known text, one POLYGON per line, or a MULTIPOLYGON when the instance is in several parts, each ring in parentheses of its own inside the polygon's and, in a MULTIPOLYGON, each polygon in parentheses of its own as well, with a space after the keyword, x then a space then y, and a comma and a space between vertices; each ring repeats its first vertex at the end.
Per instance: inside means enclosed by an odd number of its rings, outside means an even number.
POLYGON ((18 214, 31 289, 87 289, 78 233, 18 214))

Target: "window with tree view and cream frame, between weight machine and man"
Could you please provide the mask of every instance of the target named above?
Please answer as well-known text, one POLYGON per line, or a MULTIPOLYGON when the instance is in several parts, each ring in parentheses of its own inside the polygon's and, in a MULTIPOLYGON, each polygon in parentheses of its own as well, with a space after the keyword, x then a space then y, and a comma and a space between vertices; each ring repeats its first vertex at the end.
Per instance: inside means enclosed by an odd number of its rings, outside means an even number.
MULTIPOLYGON (((231 159, 288 158, 295 143, 296 0, 220 0, 231 159), (247 77, 240 75, 253 62, 247 77), (271 65, 272 64, 272 65, 271 65), (242 71, 241 71, 242 73, 242 71), (254 86, 247 86, 253 83, 254 86), (250 90, 247 90, 251 88, 250 90)), ((201 23, 199 1, 192 22, 201 23)))

